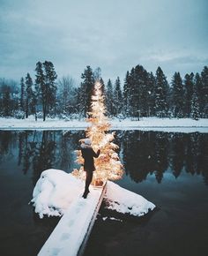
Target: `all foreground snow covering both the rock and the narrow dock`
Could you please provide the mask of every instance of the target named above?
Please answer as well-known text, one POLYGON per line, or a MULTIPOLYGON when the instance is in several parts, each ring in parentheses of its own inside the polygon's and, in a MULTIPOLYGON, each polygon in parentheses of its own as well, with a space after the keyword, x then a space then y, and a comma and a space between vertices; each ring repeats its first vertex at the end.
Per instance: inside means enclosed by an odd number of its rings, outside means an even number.
MULTIPOLYGON (((102 189, 90 187, 87 199, 82 198, 84 182, 60 169, 47 169, 33 190, 33 206, 42 218, 44 215, 60 216, 50 237, 42 246, 39 256, 77 255, 82 245, 94 212, 99 204, 102 189)), ((145 215, 155 206, 145 198, 108 182, 106 200, 110 209, 130 215, 145 215)), ((109 217, 112 221, 122 221, 109 217)), ((103 220, 106 220, 105 218, 103 220)))

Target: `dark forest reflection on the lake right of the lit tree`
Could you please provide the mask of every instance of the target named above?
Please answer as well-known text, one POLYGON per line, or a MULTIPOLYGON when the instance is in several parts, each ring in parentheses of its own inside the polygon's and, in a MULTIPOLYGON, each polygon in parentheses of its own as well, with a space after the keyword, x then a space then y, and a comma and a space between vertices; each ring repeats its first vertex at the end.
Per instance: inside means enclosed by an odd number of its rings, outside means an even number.
POLYGON ((170 168, 175 178, 184 169, 192 175, 202 175, 208 184, 206 134, 126 131, 122 137, 126 174, 135 182, 142 182, 153 173, 161 183, 170 168))

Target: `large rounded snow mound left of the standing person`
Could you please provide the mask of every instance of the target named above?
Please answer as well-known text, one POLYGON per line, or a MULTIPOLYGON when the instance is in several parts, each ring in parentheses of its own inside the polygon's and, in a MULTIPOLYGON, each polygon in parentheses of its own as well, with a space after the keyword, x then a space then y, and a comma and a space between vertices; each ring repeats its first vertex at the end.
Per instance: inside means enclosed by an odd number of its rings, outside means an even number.
POLYGON ((41 173, 33 189, 33 203, 35 213, 43 215, 61 216, 73 200, 81 197, 84 183, 60 169, 47 169, 41 173))

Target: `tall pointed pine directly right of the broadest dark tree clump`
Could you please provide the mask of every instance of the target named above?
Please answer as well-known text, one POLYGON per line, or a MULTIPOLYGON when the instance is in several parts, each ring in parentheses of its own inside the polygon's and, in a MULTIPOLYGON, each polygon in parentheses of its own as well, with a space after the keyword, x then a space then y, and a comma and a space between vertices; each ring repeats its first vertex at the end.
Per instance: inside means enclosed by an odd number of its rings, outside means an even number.
POLYGON ((155 81, 155 114, 158 117, 167 117, 167 93, 167 79, 161 68, 158 67, 155 81))

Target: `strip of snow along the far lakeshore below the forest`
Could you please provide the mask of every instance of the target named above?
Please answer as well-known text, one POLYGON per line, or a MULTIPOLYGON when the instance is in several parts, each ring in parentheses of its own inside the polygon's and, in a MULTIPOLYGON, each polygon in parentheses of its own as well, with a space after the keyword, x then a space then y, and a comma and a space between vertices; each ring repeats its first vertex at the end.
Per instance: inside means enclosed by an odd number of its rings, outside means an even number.
MULTIPOLYGON (((208 132, 208 118, 194 120, 191 118, 158 118, 142 117, 139 121, 126 119, 111 119, 111 129, 114 130, 141 130, 161 132, 208 132)), ((48 118, 45 122, 33 117, 28 119, 0 118, 1 130, 84 130, 89 125, 85 120, 66 120, 48 118)))

